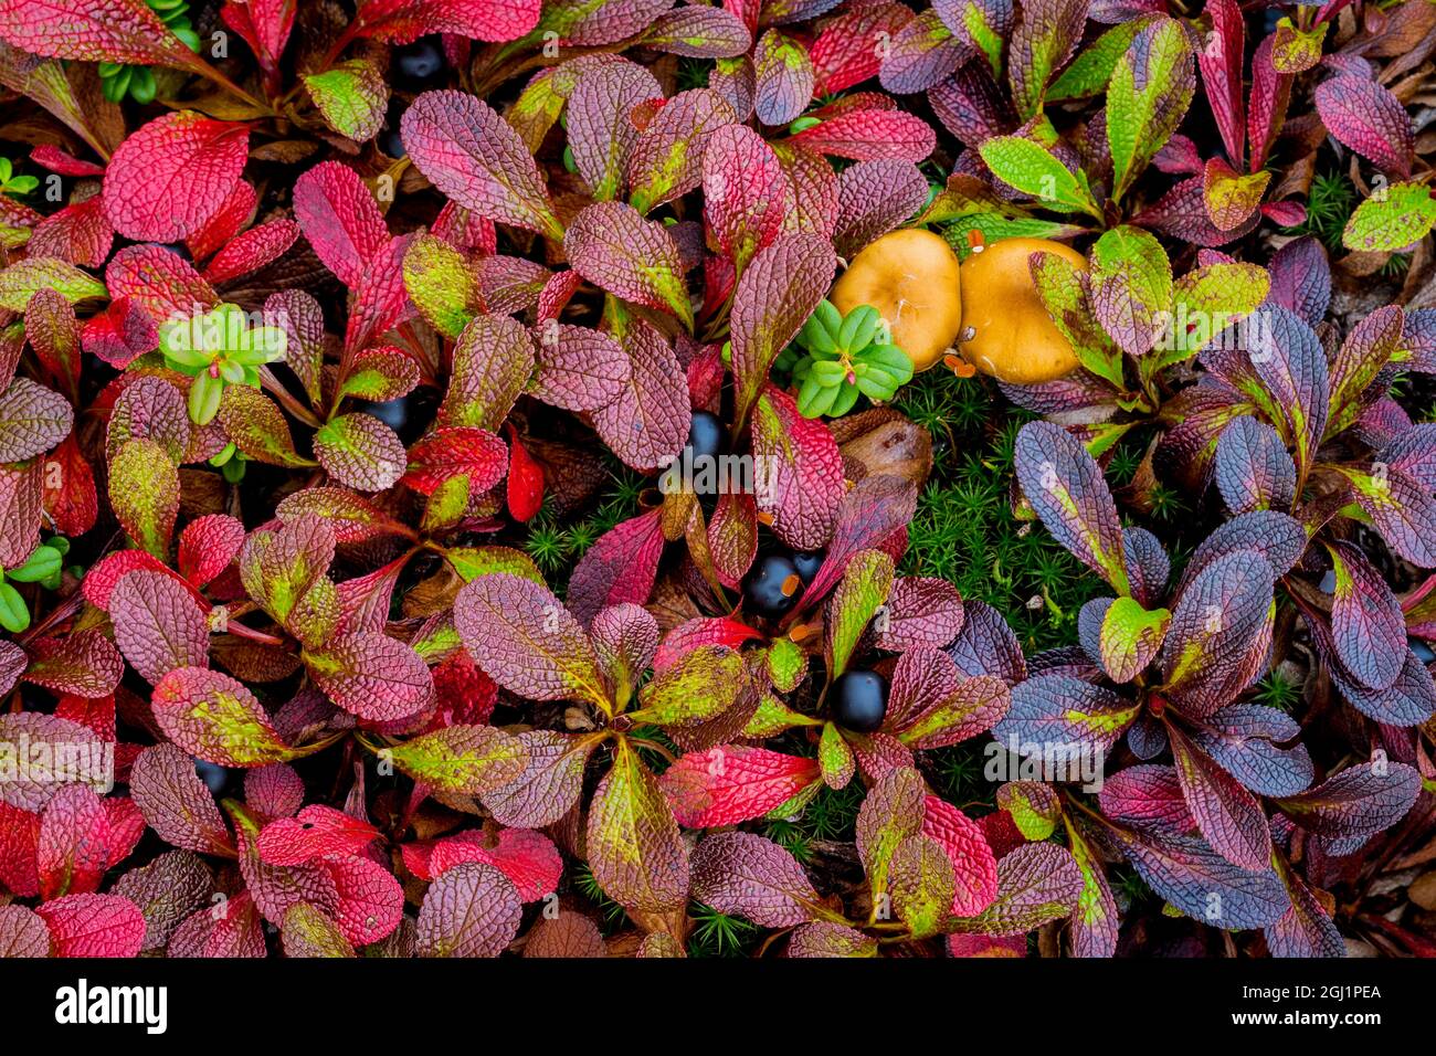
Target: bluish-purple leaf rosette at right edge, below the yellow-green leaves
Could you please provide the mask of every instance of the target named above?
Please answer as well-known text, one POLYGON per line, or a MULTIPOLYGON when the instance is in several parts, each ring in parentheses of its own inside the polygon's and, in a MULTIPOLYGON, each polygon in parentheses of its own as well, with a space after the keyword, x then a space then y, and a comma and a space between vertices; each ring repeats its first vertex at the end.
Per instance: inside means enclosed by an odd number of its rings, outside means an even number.
MULTIPOLYGON (((1200 356, 1205 374, 1170 401, 1159 457, 1211 477, 1234 513, 1290 511, 1310 536, 1370 526, 1400 557, 1436 566, 1430 440, 1393 398, 1399 374, 1436 372, 1436 313, 1391 305, 1328 359, 1313 329, 1328 296, 1325 254, 1302 240, 1274 272, 1281 297, 1200 356)), ((1291 249, 1288 247, 1288 249, 1291 249)))

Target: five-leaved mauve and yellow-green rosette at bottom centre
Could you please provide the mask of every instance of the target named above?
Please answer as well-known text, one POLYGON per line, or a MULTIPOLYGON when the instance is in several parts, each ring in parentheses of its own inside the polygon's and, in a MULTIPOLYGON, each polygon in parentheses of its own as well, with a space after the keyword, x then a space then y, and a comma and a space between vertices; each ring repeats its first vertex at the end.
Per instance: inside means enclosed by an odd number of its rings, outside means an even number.
POLYGON ((661 754, 666 749, 645 730, 691 749, 735 736, 760 703, 745 657, 728 645, 694 644, 658 662, 662 647, 649 612, 609 606, 584 631, 524 572, 474 578, 454 603, 454 626, 498 685, 530 701, 572 701, 567 724, 576 731, 520 734, 527 761, 514 779, 481 793, 488 812, 521 828, 559 820, 579 802, 587 761, 603 747, 610 761, 587 805, 595 879, 630 915, 658 921, 682 909, 688 848, 643 757, 655 746, 661 754), (651 667, 652 678, 642 682, 651 667))

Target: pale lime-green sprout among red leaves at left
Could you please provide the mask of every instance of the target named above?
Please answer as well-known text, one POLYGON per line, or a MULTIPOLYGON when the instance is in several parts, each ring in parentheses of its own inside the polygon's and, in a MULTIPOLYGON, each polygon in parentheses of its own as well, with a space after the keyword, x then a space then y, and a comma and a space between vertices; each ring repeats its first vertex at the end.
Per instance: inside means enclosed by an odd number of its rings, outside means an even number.
POLYGON ((238 305, 220 305, 213 312, 174 319, 159 328, 165 365, 194 378, 190 418, 197 425, 214 421, 225 385, 258 388, 258 368, 283 359, 284 348, 284 330, 277 326, 250 329, 238 305))

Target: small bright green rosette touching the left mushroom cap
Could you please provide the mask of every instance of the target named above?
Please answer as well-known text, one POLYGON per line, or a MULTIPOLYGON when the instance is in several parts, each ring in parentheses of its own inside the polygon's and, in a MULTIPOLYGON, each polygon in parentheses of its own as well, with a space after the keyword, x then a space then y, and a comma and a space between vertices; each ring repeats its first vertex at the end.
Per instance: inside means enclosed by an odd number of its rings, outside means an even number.
POLYGON ((885 402, 912 381, 912 361, 892 343, 872 305, 859 305, 841 316, 823 299, 794 343, 797 348, 785 348, 774 366, 791 374, 804 418, 844 415, 859 395, 885 402))

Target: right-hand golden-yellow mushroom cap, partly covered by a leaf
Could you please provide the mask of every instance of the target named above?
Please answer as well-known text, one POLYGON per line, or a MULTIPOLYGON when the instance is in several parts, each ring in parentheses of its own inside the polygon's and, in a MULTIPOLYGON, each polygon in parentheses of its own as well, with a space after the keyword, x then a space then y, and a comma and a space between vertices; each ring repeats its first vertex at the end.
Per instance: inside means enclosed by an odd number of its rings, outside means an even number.
POLYGON ((962 261, 962 322, 971 338, 958 351, 984 374, 1015 385, 1055 381, 1077 368, 1071 345, 1037 296, 1032 253, 1055 253, 1087 269, 1081 253, 1045 238, 1004 238, 962 261))

